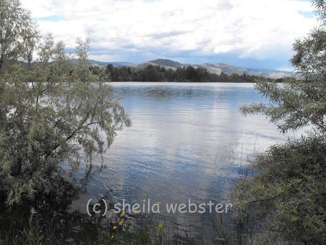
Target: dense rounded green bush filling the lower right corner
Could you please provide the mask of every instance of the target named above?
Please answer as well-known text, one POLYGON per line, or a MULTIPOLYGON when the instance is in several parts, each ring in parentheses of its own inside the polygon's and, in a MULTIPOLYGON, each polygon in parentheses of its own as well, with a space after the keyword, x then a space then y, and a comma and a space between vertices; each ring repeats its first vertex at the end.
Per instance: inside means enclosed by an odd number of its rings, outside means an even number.
POLYGON ((262 244, 326 241, 325 152, 324 137, 274 145, 252 164, 258 174, 235 183, 237 218, 250 214, 251 224, 265 220, 262 244))

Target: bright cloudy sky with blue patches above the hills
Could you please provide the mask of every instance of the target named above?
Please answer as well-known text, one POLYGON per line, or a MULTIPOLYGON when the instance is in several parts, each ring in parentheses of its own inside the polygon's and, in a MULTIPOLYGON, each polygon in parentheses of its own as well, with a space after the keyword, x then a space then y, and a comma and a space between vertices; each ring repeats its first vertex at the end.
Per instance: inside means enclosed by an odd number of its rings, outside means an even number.
POLYGON ((39 30, 89 58, 142 63, 227 63, 292 70, 292 43, 318 22, 310 0, 22 0, 39 30))

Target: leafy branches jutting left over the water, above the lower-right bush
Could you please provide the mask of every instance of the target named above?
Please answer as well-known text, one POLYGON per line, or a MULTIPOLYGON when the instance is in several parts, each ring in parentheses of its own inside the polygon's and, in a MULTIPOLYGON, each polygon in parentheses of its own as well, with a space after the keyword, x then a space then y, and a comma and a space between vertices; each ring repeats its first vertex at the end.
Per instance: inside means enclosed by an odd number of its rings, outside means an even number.
POLYGON ((269 104, 253 104, 240 108, 244 115, 264 114, 277 124, 282 133, 312 126, 319 133, 326 133, 326 84, 299 82, 295 79, 283 84, 260 80, 255 89, 269 99, 269 104))

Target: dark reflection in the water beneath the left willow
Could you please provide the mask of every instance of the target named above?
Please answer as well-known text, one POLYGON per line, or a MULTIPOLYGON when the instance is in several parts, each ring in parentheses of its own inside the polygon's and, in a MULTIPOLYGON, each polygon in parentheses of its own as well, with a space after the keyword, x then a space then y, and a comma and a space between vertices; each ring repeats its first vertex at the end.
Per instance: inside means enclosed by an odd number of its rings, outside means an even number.
MULTIPOLYGON (((85 212, 73 210, 71 205, 81 194, 88 194, 87 185, 104 168, 88 164, 84 176, 79 180, 73 178, 72 171, 64 176, 57 175, 46 185, 45 194, 36 195, 33 202, 23 201, 24 205, 13 207, 12 210, 2 206, 0 230, 9 232, 11 237, 19 240, 17 234, 31 223, 40 234, 41 240, 46 238, 59 244, 78 244, 82 241, 96 240, 97 225, 105 222, 106 218, 99 215, 90 217, 85 212)), ((108 192, 103 197, 107 199, 108 192)), ((93 205, 90 205, 90 208, 93 208, 93 205)), ((113 208, 112 204, 109 208, 113 208)))

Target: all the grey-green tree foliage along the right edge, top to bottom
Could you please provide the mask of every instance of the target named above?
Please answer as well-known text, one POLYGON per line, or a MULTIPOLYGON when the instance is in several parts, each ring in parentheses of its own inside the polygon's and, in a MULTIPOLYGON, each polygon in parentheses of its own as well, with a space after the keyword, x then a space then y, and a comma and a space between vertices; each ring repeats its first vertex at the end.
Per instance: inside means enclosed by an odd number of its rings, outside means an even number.
POLYGON ((280 85, 255 85, 269 104, 240 108, 264 114, 280 132, 311 127, 301 139, 276 144, 252 162, 232 192, 235 217, 247 228, 263 224, 259 244, 324 244, 326 241, 326 4, 314 1, 321 25, 295 40, 290 60, 297 75, 280 85))

